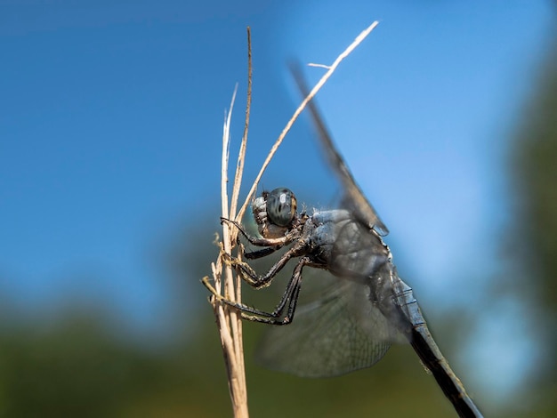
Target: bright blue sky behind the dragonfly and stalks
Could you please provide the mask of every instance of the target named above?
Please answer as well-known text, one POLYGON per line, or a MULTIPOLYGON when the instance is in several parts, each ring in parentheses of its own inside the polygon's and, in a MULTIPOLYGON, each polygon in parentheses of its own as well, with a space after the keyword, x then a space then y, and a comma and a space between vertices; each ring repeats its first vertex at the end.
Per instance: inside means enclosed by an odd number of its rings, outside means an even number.
MULTIPOLYGON (((78 294, 138 330, 164 322, 161 273, 147 254, 177 225, 193 229, 218 211, 223 111, 237 82, 233 139, 243 126, 248 25, 247 181, 299 100, 287 60, 330 64, 380 20, 319 93, 327 125, 426 312, 469 304, 500 273, 491 237, 513 216, 510 134, 554 35, 551 2, 3 2, 0 11, 0 290, 22 311, 42 315, 78 294)), ((311 80, 321 72, 307 70, 311 80)), ((319 156, 303 124, 263 180, 269 188, 311 181, 319 156)), ((493 327, 480 332, 488 339, 493 327)))

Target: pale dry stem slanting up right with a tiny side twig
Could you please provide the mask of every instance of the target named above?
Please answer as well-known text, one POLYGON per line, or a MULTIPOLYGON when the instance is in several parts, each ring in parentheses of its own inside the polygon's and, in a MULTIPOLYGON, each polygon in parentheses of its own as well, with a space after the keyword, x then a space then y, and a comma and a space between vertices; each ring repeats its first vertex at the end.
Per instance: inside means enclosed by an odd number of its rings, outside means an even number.
POLYGON ((235 218, 236 221, 241 221, 242 216, 244 215, 244 212, 246 212, 246 207, 249 203, 249 201, 251 200, 251 198, 253 197, 254 193, 255 193, 255 189, 257 189, 257 185, 259 184, 259 181, 262 178, 262 175, 265 171, 265 169, 267 168, 267 165, 269 165, 271 158, 275 155, 275 153, 277 152, 278 147, 280 146, 280 144, 282 143, 282 141, 285 139, 285 137, 287 136, 288 131, 290 131, 290 128, 292 128, 292 125, 294 125, 296 119, 300 116, 300 114, 302 113, 303 109, 306 107, 306 105, 308 104, 308 102, 313 99, 313 97, 317 94, 317 92, 319 92, 319 89, 323 86, 323 84, 325 84, 328 80, 328 78, 330 76, 333 75, 333 73, 335 72, 335 69, 339 66, 339 64, 341 63, 342 60, 344 60, 344 58, 346 58, 348 55, 350 55, 350 53, 359 45, 361 44, 361 42, 367 37, 367 35, 369 35, 371 33, 371 31, 373 29, 375 29, 375 27, 379 24, 378 21, 374 21, 371 25, 369 25, 363 32, 361 32, 359 34, 359 36, 356 37, 356 39, 354 39, 354 41, 348 46, 348 48, 346 48, 335 60, 335 62, 333 62, 332 65, 327 66, 327 65, 322 65, 322 64, 311 64, 313 67, 323 67, 323 68, 328 68, 327 72, 321 77, 321 79, 319 80, 319 82, 317 84, 315 84, 315 86, 313 87, 313 89, 311 89, 310 94, 308 94, 308 96, 302 101, 302 103, 300 104, 300 106, 298 106, 298 109, 296 109, 296 111, 294 112, 294 115, 290 118, 290 120, 288 121, 287 125, 285 126, 285 128, 282 130, 282 132, 280 133, 280 135, 278 135, 278 140, 274 143, 274 145, 272 146, 272 148, 269 151, 269 155, 267 156, 267 158, 265 159, 265 161, 263 162, 263 165, 261 167, 261 170, 259 171, 259 173, 257 174, 257 177, 255 177, 254 180, 254 184, 252 186, 252 188, 249 190, 249 193, 247 194, 246 197, 246 201, 244 202, 244 204, 242 205, 242 207, 240 208, 240 210, 238 211, 238 215, 235 218))

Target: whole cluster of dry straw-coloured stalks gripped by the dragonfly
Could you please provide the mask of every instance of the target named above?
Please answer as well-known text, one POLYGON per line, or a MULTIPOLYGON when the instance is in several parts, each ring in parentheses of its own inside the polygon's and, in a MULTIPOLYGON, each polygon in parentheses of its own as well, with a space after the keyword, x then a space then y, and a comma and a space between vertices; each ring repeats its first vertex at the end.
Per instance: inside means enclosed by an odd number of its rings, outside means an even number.
MULTIPOLYGON (((251 94, 252 94, 252 54, 251 54, 251 34, 250 28, 247 28, 247 59, 248 59, 248 76, 247 76, 247 101, 246 101, 246 122, 244 125, 244 134, 242 137, 242 142, 240 145, 238 163, 236 167, 236 174, 234 177, 234 184, 232 187, 232 197, 230 199, 227 192, 228 184, 228 162, 230 153, 230 118, 232 115, 232 109, 234 107, 234 100, 236 98, 236 91, 232 95, 232 100, 230 102, 230 110, 225 117, 224 126, 222 130, 222 173, 221 173, 221 198, 222 198, 222 217, 226 219, 235 219, 241 221, 243 214, 246 212, 246 207, 249 201, 252 199, 257 185, 261 180, 262 174, 270 163, 270 159, 276 153, 278 147, 286 137, 288 131, 294 125, 297 117, 302 113, 303 109, 307 103, 315 96, 319 89, 327 82, 327 79, 335 72, 335 69, 341 63, 341 61, 346 58, 365 38, 369 33, 377 26, 378 22, 373 22, 366 30, 364 30, 358 37, 342 52, 332 65, 320 65, 320 64, 310 64, 314 67, 327 68, 327 72, 321 77, 319 82, 313 87, 308 96, 302 101, 298 109, 295 110, 294 115, 290 118, 287 125, 283 129, 282 133, 278 136, 278 140, 270 149, 269 155, 262 164, 260 172, 257 174, 255 181, 249 190, 244 204, 240 207, 238 213, 236 209, 238 207, 238 197, 240 190, 240 183, 242 181, 242 173, 244 170, 244 162, 246 158, 246 145, 247 145, 247 133, 249 127, 249 115, 251 109, 251 94), (229 210, 230 208, 230 210, 229 210)), ((231 254, 232 249, 236 243, 236 237, 238 235, 238 230, 235 229, 230 223, 224 223, 222 225, 222 243, 221 253, 215 263, 211 264, 214 287, 209 284, 208 277, 203 279, 204 284, 213 293, 212 303, 214 306, 214 313, 216 316, 216 323, 219 328, 219 334, 221 336, 222 352, 224 355, 224 362, 227 369, 227 374, 229 378, 229 390, 230 398, 232 400, 232 406, 234 410, 234 416, 236 418, 246 418, 248 417, 247 410, 247 390, 246 390, 246 372, 244 369, 244 352, 243 352, 243 342, 242 342, 242 323, 239 313, 235 309, 230 309, 226 304, 222 303, 222 298, 229 299, 230 301, 240 302, 241 296, 241 279, 236 277, 236 282, 234 281, 234 276, 232 274, 232 269, 230 264, 222 262, 222 253, 231 254), (222 288, 224 288, 224 294, 222 294, 222 288)), ((238 253, 238 258, 241 257, 241 253, 238 253)))

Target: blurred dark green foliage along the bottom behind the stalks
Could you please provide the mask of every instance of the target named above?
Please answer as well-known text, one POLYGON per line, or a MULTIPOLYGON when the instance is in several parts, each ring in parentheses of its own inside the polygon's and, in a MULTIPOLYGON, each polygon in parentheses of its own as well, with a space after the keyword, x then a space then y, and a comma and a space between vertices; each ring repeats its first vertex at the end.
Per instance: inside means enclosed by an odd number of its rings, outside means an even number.
MULTIPOLYGON (((230 416, 210 315, 197 318, 205 326, 198 327, 193 340, 157 349, 110 334, 98 319, 72 312, 66 318, 52 326, 35 324, 2 334, 0 416, 230 416)), ((359 416, 370 410, 376 416, 451 414, 408 347, 393 348, 370 370, 304 380, 253 364, 250 358, 260 330, 258 325, 246 326, 253 416, 359 416)))

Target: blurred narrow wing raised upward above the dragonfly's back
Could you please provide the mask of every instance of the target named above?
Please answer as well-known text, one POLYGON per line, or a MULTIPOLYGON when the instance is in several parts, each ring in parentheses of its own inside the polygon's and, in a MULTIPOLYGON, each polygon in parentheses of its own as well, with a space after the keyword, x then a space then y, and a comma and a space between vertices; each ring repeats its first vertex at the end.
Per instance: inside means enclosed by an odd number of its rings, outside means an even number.
MULTIPOLYGON (((303 97, 306 97, 309 90, 305 84, 302 71, 295 65, 291 66, 291 70, 300 92, 302 92, 303 97)), ((310 109, 313 124, 318 131, 319 141, 327 155, 327 161, 343 184, 343 207, 349 209, 356 219, 364 225, 367 225, 369 229, 375 229, 382 236, 387 235, 389 229, 387 229, 383 221, 379 219, 374 207, 359 189, 348 166, 344 163, 343 157, 341 157, 338 150, 335 148, 331 135, 327 131, 327 126, 323 123, 323 118, 319 115, 319 109, 317 108, 315 100, 311 100, 308 103, 308 109, 310 109)))

